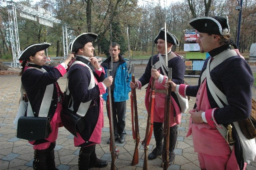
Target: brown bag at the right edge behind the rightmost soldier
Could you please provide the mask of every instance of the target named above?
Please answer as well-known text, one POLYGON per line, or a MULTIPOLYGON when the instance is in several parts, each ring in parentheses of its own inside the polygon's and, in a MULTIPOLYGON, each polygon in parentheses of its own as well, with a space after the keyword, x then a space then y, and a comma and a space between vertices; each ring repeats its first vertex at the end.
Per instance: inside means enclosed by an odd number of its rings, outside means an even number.
POLYGON ((248 139, 256 138, 256 101, 252 99, 252 113, 244 121, 238 121, 240 129, 248 139))

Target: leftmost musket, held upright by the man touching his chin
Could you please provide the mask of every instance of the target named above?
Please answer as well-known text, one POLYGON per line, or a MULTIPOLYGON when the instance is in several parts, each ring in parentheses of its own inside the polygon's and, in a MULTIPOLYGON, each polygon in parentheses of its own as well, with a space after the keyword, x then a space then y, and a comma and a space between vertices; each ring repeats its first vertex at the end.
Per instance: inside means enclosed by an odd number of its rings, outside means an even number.
MULTIPOLYGON (((110 76, 110 71, 113 69, 113 58, 112 58, 112 28, 110 24, 110 57, 111 57, 111 68, 107 69, 107 76, 110 76)), ((108 114, 109 114, 109 127, 110 127, 110 153, 111 153, 111 170, 115 170, 115 160, 118 157, 119 150, 116 149, 115 136, 114 136, 114 122, 113 122, 113 111, 112 111, 112 97, 111 87, 108 87, 108 114)))

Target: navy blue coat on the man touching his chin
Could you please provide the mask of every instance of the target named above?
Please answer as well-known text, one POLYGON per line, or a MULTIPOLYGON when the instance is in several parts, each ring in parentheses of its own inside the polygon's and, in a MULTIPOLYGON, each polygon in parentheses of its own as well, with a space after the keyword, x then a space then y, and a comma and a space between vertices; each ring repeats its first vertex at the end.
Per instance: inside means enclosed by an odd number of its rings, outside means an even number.
MULTIPOLYGON (((100 77, 93 71, 94 77, 96 77, 98 82, 101 82, 105 79, 105 74, 102 73, 100 77)), ((68 71, 68 88, 70 90, 70 94, 74 99, 74 112, 78 111, 80 103, 86 103, 90 100, 91 104, 83 117, 86 127, 83 132, 80 132, 80 135, 85 141, 88 141, 94 128, 96 127, 96 123, 99 117, 99 107, 100 107, 100 90, 98 85, 95 85, 92 89, 88 90, 88 86, 90 84, 91 74, 88 67, 80 64, 74 64, 70 67, 68 71)), ((83 146, 90 144, 86 143, 83 146)))

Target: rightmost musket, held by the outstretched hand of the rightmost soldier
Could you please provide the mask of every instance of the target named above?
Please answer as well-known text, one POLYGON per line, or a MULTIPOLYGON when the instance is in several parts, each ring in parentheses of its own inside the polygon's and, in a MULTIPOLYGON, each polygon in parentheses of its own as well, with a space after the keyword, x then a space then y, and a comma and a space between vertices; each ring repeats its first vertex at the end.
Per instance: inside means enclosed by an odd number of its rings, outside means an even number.
MULTIPOLYGON (((172 68, 169 68, 168 70, 168 80, 172 81, 172 68)), ((170 109, 172 105, 171 89, 171 87, 168 87, 164 100, 164 145, 162 151, 162 167, 164 168, 164 170, 167 170, 169 166, 170 109)))

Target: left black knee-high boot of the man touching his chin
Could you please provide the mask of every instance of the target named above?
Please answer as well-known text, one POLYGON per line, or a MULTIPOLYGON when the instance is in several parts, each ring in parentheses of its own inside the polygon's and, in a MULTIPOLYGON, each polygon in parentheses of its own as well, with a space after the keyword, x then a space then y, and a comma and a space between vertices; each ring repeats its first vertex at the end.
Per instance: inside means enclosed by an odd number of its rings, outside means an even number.
POLYGON ((78 169, 79 170, 88 170, 89 169, 89 162, 90 162, 90 155, 95 149, 95 145, 81 147, 78 157, 78 169))

